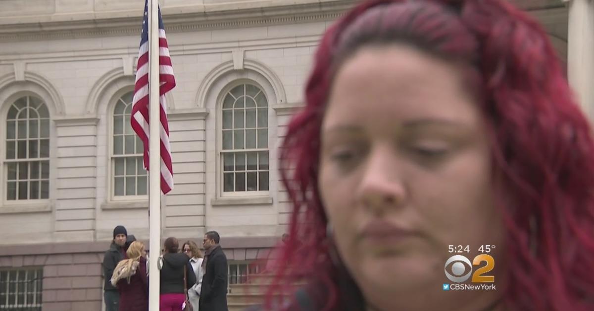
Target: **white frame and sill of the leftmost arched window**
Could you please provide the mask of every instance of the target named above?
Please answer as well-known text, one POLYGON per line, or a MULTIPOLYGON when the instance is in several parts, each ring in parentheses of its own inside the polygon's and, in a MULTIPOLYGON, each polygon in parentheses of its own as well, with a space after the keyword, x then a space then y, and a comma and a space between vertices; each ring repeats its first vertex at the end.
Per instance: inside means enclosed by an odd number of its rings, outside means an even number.
MULTIPOLYGON (((50 105, 48 104, 48 101, 46 101, 42 96, 39 96, 37 94, 35 94, 34 92, 30 92, 30 91, 23 91, 23 92, 17 92, 15 94, 12 94, 10 97, 7 98, 7 100, 2 103, 2 109, 0 110, 0 122, 2 123, 0 125, 0 129, 2 129, 0 134, 0 143, 2 143, 2 155, 0 155, 0 177, 2 178, 0 184, 0 202, 2 202, 2 204, 4 205, 3 209, 4 212, 6 211, 14 211, 14 212, 27 212, 27 211, 47 211, 49 209, 49 204, 52 200, 52 189, 53 189, 53 179, 52 179, 52 162, 55 161, 55 159, 53 159, 53 143, 52 141, 54 141, 53 137, 53 129, 52 129, 52 110, 50 110, 50 105), (20 98, 23 97, 35 97, 37 98, 37 100, 40 100, 43 102, 43 104, 45 105, 46 109, 48 110, 48 125, 49 125, 49 129, 48 129, 48 137, 43 137, 43 138, 47 138, 49 140, 49 146, 48 146, 48 157, 47 158, 34 158, 31 159, 32 161, 48 161, 49 162, 49 171, 48 171, 48 198, 37 198, 37 199, 31 199, 28 198, 26 200, 8 200, 8 193, 7 193, 7 189, 8 189, 8 169, 7 169, 7 163, 9 162, 30 162, 30 161, 26 161, 27 159, 23 159, 24 161, 18 161, 18 159, 7 159, 6 156, 6 147, 7 147, 7 137, 6 137, 6 133, 7 131, 7 121, 8 121, 8 111, 10 111, 10 108, 12 107, 12 105, 14 104, 15 101, 19 100, 20 98), (12 210, 11 207, 17 207, 17 209, 12 210), (32 209, 27 209, 26 207, 32 207, 32 209)), ((29 120, 27 118, 27 120, 29 120)), ((39 124, 38 124, 39 127, 39 124)), ((27 133, 29 133, 29 127, 27 127, 27 133)), ((27 135, 28 137, 29 135, 27 135)), ((38 137, 39 138, 39 137, 38 137)), ((18 152, 18 147, 15 146, 15 152, 18 152)), ((28 147, 27 147, 28 149, 28 147)), ((39 150, 40 152, 40 150, 39 150)), ((17 154, 15 153, 15 156, 17 156, 17 154)), ((41 177, 41 168, 39 171, 40 177, 41 177)), ((29 180, 29 179, 27 179, 29 180)), ((41 189, 40 189, 41 191, 41 189)), ((27 193, 29 194, 29 190, 27 190, 27 193)), ((18 193, 17 193, 18 196, 18 193)))

